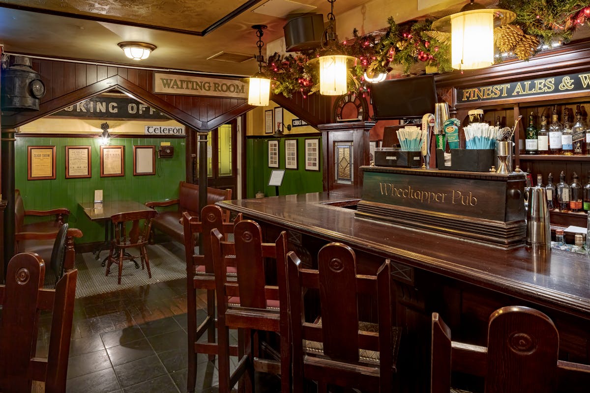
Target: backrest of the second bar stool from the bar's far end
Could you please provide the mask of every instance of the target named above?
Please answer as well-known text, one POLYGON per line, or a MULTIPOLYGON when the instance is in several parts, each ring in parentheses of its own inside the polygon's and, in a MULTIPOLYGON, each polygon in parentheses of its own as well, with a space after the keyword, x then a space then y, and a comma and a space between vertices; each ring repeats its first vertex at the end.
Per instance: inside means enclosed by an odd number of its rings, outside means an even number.
POLYGON ((281 232, 275 243, 263 243, 258 223, 242 220, 234 226, 234 243, 222 240, 221 233, 212 230, 211 248, 219 313, 227 309, 228 298, 239 296, 240 306, 247 308, 266 309, 268 299, 279 300, 281 312, 286 316, 286 285, 267 285, 264 265, 265 258, 277 260, 277 282, 286 283, 285 265, 280 257, 286 255, 286 232, 281 232), (235 266, 236 282, 228 282, 224 273, 228 266, 235 266))

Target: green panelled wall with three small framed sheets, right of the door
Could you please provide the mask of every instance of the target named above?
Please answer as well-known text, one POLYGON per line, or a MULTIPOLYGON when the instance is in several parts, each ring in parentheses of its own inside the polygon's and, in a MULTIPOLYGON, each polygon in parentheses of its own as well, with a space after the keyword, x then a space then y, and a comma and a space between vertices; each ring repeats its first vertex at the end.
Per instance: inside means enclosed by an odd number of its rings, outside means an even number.
MULTIPOLYGON (((246 194, 248 198, 254 198, 258 191, 263 191, 265 196, 276 195, 276 187, 269 187, 268 179, 271 170, 268 167, 268 141, 278 140, 278 169, 285 169, 285 140, 297 140, 297 169, 286 169, 283 185, 278 188, 280 195, 304 194, 323 191, 322 165, 319 171, 305 170, 305 140, 319 139, 322 146, 322 138, 317 136, 301 136, 287 138, 247 138, 246 140, 246 194)), ((320 150, 321 153, 321 150, 320 150)), ((320 154, 321 156, 321 154, 320 154)))

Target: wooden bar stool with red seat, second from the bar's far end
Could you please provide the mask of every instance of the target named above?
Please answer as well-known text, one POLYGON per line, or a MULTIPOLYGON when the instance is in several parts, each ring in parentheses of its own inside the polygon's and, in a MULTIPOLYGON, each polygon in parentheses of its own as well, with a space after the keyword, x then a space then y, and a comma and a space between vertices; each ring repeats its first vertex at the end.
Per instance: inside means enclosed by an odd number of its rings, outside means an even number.
POLYGON ((219 345, 219 391, 228 393, 247 372, 254 389, 254 371, 281 375, 281 391, 290 392, 291 351, 287 319, 285 256, 287 235, 281 232, 275 243, 263 243, 257 223, 242 220, 235 224, 235 243, 222 242, 214 229, 211 235, 217 290, 219 345), (278 286, 266 285, 264 259, 277 261, 278 286), (226 269, 235 266, 237 279, 229 281, 226 269), (238 365, 230 374, 229 329, 238 329, 238 365), (253 348, 255 331, 280 333, 280 361, 261 359, 253 348))

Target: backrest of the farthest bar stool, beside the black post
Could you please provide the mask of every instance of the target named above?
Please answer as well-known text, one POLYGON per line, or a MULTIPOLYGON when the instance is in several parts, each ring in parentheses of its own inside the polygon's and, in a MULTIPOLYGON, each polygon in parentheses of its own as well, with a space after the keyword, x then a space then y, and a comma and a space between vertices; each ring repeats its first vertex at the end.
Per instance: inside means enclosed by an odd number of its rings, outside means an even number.
POLYGON ((242 213, 240 213, 235 217, 234 222, 224 222, 224 214, 221 207, 214 204, 203 207, 200 217, 193 217, 189 212, 182 213, 188 277, 195 274, 197 266, 205 266, 206 273, 215 273, 211 253, 211 230, 218 229, 221 235, 234 233, 234 225, 242 219, 242 213), (199 219, 202 221, 199 221, 199 219), (200 255, 195 253, 195 234, 197 233, 202 238, 200 255))

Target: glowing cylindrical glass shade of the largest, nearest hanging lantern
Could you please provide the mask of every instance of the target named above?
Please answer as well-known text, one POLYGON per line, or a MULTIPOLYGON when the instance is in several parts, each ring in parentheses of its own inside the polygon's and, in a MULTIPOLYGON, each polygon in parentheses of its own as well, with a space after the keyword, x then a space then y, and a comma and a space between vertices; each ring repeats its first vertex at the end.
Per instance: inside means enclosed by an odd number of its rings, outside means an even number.
POLYGON ((494 15, 481 11, 451 15, 451 66, 457 70, 494 64, 494 15))

